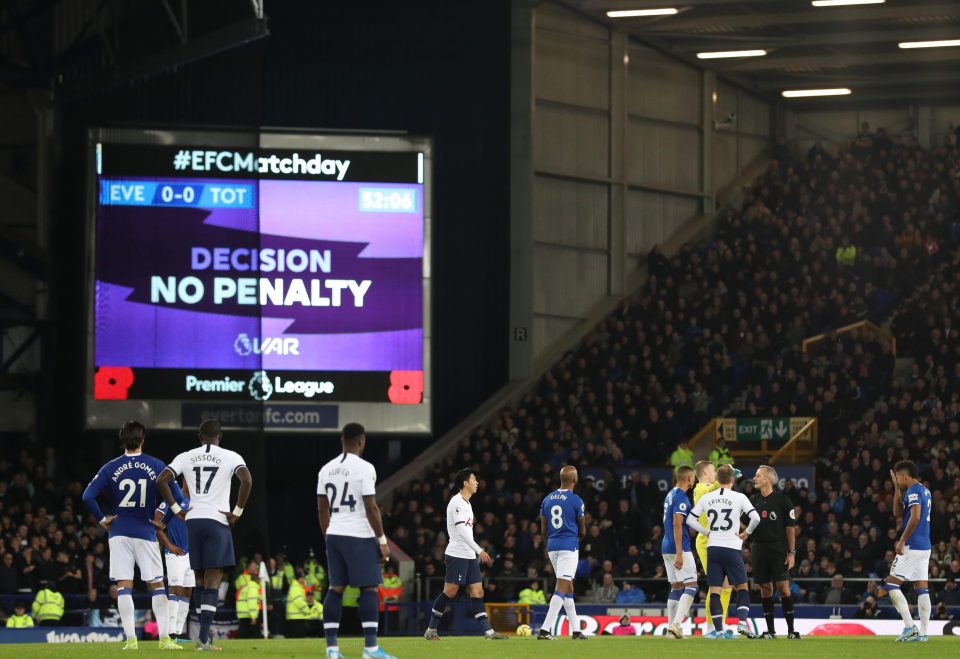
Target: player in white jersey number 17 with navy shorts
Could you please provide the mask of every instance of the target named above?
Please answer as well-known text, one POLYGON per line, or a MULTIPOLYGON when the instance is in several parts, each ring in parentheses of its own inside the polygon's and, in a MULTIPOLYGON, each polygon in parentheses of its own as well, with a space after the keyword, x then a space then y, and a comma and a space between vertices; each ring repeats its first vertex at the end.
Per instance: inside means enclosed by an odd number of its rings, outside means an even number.
POLYGON ((190 543, 190 567, 203 588, 200 595, 200 634, 197 650, 219 650, 210 637, 210 625, 217 612, 223 570, 236 565, 233 534, 250 498, 253 477, 239 454, 220 446, 220 423, 207 419, 200 424, 200 446, 184 451, 173 459, 157 479, 157 489, 173 514, 180 505, 173 500, 170 483, 183 476, 191 491, 187 511, 187 539, 190 543), (230 486, 234 476, 240 481, 237 504, 230 510, 230 486))

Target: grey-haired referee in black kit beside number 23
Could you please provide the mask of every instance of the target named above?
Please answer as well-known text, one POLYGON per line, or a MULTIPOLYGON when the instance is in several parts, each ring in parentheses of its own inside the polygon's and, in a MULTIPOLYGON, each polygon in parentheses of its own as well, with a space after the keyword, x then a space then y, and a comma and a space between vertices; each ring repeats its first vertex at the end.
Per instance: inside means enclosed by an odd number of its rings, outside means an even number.
POLYGON ((753 580, 760 584, 763 597, 763 617, 767 619, 767 631, 759 638, 776 638, 773 630, 773 584, 780 591, 780 605, 787 621, 787 638, 799 639, 793 629, 793 597, 790 595, 790 570, 797 553, 797 512, 782 492, 773 486, 780 482, 777 471, 769 465, 761 465, 753 477, 759 492, 753 495, 752 503, 760 513, 760 524, 750 536, 750 559, 753 565, 753 580))

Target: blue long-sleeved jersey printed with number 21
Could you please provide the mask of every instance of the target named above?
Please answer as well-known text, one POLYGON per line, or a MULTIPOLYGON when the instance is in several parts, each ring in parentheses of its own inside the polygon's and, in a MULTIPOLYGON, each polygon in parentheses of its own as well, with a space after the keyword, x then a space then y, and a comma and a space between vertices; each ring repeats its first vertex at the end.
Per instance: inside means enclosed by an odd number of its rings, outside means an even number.
POLYGON ((106 494, 112 513, 110 537, 125 536, 156 541, 157 532, 150 520, 157 510, 157 477, 164 463, 144 453, 121 455, 103 465, 83 493, 83 501, 100 519, 103 513, 97 497, 106 494))

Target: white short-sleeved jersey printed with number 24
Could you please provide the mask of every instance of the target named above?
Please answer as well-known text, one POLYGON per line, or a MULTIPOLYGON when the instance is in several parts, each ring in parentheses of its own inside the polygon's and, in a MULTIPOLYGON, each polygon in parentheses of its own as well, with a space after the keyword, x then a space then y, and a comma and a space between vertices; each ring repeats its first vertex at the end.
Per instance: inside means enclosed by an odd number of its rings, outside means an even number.
POLYGON ((375 496, 376 485, 377 470, 359 455, 343 453, 323 465, 317 478, 317 494, 330 502, 328 535, 374 537, 363 497, 375 496))

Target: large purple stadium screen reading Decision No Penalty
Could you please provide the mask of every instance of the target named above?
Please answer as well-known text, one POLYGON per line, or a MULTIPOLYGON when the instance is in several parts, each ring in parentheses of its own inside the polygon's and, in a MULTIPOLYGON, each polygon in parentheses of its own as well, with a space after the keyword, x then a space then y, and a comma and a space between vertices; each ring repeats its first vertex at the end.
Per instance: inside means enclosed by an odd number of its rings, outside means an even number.
POLYGON ((91 427, 429 431, 430 144, 94 131, 91 427))

